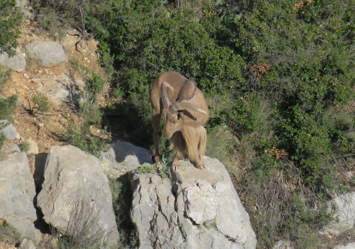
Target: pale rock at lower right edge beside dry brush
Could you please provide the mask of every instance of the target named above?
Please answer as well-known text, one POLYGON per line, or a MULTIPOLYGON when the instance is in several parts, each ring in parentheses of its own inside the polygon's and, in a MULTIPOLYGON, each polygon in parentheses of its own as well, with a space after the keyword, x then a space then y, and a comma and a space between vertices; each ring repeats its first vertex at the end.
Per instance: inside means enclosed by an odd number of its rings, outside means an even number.
POLYGON ((324 230, 328 233, 338 235, 349 230, 355 223, 355 192, 344 195, 336 195, 332 203, 337 207, 339 222, 327 226, 324 230))

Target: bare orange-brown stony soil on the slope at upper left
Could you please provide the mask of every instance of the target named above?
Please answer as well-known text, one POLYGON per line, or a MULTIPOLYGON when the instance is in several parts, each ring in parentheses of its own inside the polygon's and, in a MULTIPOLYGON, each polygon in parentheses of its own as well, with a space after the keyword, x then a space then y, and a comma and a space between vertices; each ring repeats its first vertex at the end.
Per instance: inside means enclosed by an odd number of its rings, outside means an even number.
MULTIPOLYGON (((32 41, 53 40, 50 34, 38 27, 36 22, 26 20, 20 27, 21 38, 19 48, 26 57, 24 46, 32 41)), ((77 60, 79 64, 85 65, 91 70, 103 75, 100 66, 97 63, 98 55, 96 49, 98 42, 95 40, 83 40, 76 51, 75 43, 80 40, 76 30, 68 30, 66 36, 60 43, 68 56, 68 61, 59 64, 53 68, 32 68, 29 63, 26 69, 20 73, 12 71, 12 80, 7 83, 2 95, 4 97, 16 94, 18 96, 18 107, 14 113, 15 128, 21 135, 21 139, 15 140, 15 143, 20 143, 28 138, 33 139, 38 144, 39 153, 48 152, 51 145, 62 144, 58 139, 58 132, 65 131, 68 117, 76 118, 75 112, 66 105, 51 106, 50 111, 46 115, 37 113, 31 115, 28 113, 29 107, 33 106, 33 95, 40 94, 37 88, 38 80, 49 79, 63 73, 80 79, 70 63, 72 60, 77 60)), ((104 98, 100 98, 100 103, 105 104, 104 98)), ((80 120, 78 120, 80 123, 80 120)), ((6 147, 6 146, 5 146, 6 147)))

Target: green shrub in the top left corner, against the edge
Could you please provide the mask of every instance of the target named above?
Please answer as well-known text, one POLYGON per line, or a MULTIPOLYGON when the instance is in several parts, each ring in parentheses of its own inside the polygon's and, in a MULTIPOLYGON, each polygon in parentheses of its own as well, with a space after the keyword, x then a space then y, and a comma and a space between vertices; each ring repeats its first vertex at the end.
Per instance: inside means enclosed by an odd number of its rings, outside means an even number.
POLYGON ((20 37, 18 26, 22 20, 22 14, 16 6, 15 0, 2 0, 0 2, 0 54, 7 52, 14 55, 17 47, 17 39, 20 37))

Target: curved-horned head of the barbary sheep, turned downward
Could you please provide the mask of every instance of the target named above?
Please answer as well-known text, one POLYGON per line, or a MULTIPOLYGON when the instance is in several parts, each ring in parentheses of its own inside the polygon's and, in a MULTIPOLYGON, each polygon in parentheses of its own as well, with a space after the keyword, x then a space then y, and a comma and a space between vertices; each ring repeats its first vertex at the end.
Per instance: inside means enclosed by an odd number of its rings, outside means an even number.
POLYGON ((169 88, 171 91, 174 91, 173 87, 170 86, 165 81, 162 83, 160 88, 162 92, 163 106, 164 106, 164 137, 169 139, 177 131, 182 131, 184 128, 184 119, 190 118, 184 115, 184 110, 186 111, 196 111, 204 115, 207 115, 205 110, 202 110, 196 105, 192 105, 187 102, 175 102, 171 103, 166 94, 166 88, 169 88))

